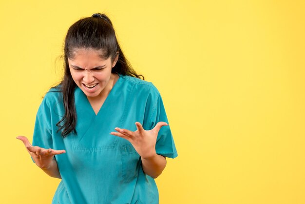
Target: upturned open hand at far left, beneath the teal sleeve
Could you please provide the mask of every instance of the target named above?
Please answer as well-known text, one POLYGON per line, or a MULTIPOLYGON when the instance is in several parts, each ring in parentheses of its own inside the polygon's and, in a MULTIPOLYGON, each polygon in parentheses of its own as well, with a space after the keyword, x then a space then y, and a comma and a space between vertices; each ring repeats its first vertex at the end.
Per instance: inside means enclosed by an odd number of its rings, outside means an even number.
POLYGON ((54 149, 45 149, 39 146, 32 146, 29 140, 24 136, 18 136, 18 140, 21 140, 26 147, 27 151, 38 165, 42 169, 49 168, 54 155, 66 153, 65 150, 54 150, 54 149))

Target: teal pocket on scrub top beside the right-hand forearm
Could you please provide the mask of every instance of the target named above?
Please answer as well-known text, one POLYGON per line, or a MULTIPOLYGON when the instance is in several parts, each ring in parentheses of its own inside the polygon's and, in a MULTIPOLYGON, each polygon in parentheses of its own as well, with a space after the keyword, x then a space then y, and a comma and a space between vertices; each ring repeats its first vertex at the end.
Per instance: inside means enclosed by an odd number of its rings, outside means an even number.
POLYGON ((135 151, 133 145, 121 145, 122 177, 125 183, 131 182, 138 176, 141 166, 140 155, 135 151))

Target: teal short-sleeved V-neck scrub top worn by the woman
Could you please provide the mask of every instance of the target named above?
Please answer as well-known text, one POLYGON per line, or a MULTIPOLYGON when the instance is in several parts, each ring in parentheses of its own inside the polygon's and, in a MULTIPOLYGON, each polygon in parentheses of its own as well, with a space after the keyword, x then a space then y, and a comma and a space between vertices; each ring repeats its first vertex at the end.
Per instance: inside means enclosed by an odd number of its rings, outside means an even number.
MULTIPOLYGON (((146 130, 168 122, 160 93, 151 82, 119 75, 97 115, 81 89, 75 89, 76 134, 62 138, 57 122, 65 109, 62 93, 50 89, 39 106, 33 145, 66 153, 56 155, 61 182, 52 204, 158 204, 157 186, 143 172, 133 145, 111 135, 115 127, 146 130)), ((177 151, 170 126, 157 137, 156 152, 175 158, 177 151)))

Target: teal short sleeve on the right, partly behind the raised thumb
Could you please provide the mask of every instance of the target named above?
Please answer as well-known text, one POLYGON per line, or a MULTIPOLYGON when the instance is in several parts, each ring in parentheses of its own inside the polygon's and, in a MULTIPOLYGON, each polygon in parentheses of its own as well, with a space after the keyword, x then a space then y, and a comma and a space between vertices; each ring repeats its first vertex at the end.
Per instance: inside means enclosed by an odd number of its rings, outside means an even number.
MULTIPOLYGON (((167 122, 169 124, 160 94, 157 94, 156 98, 157 98, 156 104, 154 110, 152 111, 152 117, 151 117, 151 124, 152 124, 151 129, 158 122, 167 122)), ((178 156, 175 143, 172 138, 172 131, 170 128, 170 124, 161 127, 158 133, 155 148, 156 148, 156 153, 159 155, 169 158, 175 158, 178 156)))

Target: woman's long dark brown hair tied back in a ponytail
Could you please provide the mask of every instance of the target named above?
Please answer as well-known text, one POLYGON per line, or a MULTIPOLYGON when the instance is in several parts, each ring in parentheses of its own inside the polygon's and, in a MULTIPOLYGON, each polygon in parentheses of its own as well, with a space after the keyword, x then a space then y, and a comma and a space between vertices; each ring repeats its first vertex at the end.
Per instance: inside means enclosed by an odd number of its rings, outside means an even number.
POLYGON ((131 64, 125 58, 115 36, 115 31, 111 20, 105 14, 94 14, 92 17, 76 21, 69 28, 64 41, 64 76, 57 86, 62 92, 65 114, 57 122, 58 131, 65 138, 69 133, 76 134, 76 108, 74 91, 76 83, 73 81, 68 59, 73 59, 77 49, 95 49, 101 51, 102 59, 111 58, 114 61, 118 54, 118 61, 112 68, 112 73, 128 75, 143 79, 142 75, 136 74, 131 64), (118 52, 118 53, 117 53, 118 52), (141 77, 141 78, 140 78, 141 77))

